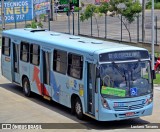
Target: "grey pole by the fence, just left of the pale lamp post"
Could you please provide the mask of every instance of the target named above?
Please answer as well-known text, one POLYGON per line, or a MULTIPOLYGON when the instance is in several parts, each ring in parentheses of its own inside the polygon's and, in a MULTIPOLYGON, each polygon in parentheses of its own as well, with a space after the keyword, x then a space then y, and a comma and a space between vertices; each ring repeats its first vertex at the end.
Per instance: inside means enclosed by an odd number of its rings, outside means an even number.
POLYGON ((145 9, 146 9, 146 0, 142 0, 142 43, 145 40, 145 9))

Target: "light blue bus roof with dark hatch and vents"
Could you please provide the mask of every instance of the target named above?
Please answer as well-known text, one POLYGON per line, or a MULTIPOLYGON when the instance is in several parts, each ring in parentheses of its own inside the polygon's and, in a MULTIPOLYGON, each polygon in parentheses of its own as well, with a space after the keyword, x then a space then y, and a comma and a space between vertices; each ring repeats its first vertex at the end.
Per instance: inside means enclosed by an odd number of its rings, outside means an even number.
POLYGON ((82 36, 74 36, 65 33, 58 33, 42 29, 11 29, 3 31, 4 36, 18 37, 20 40, 29 41, 33 43, 41 43, 42 45, 50 44, 64 49, 77 50, 87 53, 105 53, 113 51, 126 50, 146 50, 135 46, 119 44, 115 42, 97 40, 82 36))

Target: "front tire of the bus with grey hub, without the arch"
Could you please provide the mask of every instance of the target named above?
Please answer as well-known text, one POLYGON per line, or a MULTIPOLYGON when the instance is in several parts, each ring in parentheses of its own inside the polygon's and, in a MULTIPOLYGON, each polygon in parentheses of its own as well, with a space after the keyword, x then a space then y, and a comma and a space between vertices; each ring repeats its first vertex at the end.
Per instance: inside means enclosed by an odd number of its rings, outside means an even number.
POLYGON ((82 120, 83 119, 83 108, 82 108, 82 103, 81 100, 77 97, 75 100, 75 113, 78 119, 82 120))

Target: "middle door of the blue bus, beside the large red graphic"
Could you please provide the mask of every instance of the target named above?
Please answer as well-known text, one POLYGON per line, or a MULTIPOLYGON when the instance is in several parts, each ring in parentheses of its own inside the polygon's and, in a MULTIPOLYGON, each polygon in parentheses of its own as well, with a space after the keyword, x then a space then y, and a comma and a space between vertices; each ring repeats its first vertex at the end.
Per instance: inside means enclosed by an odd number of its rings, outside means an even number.
POLYGON ((50 86, 50 69, 51 69, 51 53, 49 51, 42 50, 42 95, 46 97, 46 99, 50 99, 51 97, 51 89, 50 86))

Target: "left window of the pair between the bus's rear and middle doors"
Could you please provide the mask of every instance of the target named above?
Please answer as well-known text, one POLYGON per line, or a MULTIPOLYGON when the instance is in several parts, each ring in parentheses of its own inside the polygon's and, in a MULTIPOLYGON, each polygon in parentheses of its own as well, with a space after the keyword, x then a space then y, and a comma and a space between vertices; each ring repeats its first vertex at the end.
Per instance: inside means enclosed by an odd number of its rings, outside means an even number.
POLYGON ((29 61, 29 44, 26 42, 21 42, 21 60, 29 61))

